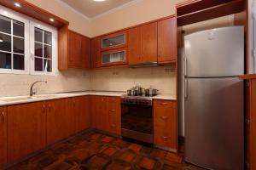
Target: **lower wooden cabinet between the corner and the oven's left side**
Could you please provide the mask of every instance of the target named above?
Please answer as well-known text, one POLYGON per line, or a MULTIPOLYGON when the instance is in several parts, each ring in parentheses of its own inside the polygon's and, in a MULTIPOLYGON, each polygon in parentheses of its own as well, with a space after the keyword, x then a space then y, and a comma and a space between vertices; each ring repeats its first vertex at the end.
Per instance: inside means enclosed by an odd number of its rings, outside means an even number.
POLYGON ((91 126, 114 134, 120 134, 121 109, 118 97, 90 97, 91 126))

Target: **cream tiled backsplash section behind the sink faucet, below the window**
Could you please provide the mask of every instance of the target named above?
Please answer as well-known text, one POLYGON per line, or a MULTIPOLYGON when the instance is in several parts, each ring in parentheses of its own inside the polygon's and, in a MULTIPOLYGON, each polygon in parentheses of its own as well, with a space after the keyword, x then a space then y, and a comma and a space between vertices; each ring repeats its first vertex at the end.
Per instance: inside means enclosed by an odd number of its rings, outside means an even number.
POLYGON ((83 91, 90 88, 90 72, 79 70, 57 71, 55 77, 0 74, 0 80, 0 97, 28 95, 32 82, 38 80, 48 82, 39 82, 35 86, 38 94, 83 91))

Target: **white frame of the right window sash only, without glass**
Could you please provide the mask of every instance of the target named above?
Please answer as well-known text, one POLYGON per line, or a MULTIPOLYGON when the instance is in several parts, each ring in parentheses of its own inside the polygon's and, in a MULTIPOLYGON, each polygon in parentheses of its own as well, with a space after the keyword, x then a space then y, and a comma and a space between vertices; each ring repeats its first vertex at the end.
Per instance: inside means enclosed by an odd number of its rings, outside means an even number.
MULTIPOLYGON (((58 31, 55 27, 53 26, 49 26, 47 24, 44 24, 43 22, 40 22, 38 20, 31 20, 30 21, 30 50, 31 50, 31 59, 30 59, 30 74, 31 75, 43 75, 43 76, 55 76, 56 73, 56 69, 57 69, 57 58, 58 58, 58 31), (51 44, 51 48, 52 48, 52 68, 51 68, 51 72, 47 72, 47 71, 35 71, 34 67, 35 67, 35 55, 34 55, 34 42, 35 42, 35 28, 38 29, 42 29, 44 31, 49 31, 52 35, 52 44, 51 44)), ((44 47, 43 47, 44 48, 44 47)), ((44 60, 43 60, 44 62, 44 60)))

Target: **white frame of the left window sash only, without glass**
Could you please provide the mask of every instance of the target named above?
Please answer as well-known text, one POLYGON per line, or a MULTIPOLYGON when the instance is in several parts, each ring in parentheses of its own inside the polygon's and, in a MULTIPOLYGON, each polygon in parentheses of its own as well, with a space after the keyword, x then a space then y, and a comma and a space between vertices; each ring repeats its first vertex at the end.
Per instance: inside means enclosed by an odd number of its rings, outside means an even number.
MULTIPOLYGON (((29 17, 27 17, 24 14, 17 13, 9 8, 5 8, 3 6, 0 6, 0 14, 4 17, 7 17, 11 20, 17 20, 22 23, 24 23, 24 70, 14 70, 13 68, 13 41, 11 42, 11 48, 12 48, 12 69, 3 69, 0 68, 0 74, 29 74, 29 17)), ((13 21, 11 21, 12 25, 11 28, 13 28, 13 21)), ((11 37, 13 37, 13 32, 11 33, 11 37)))

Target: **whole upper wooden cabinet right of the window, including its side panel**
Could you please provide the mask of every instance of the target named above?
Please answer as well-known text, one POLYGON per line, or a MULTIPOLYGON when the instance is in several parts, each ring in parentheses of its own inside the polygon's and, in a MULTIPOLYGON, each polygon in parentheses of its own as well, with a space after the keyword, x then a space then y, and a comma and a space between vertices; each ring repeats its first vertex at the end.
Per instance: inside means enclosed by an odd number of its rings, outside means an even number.
POLYGON ((68 68, 90 69, 90 38, 68 31, 67 28, 61 28, 59 30, 59 70, 68 68))

